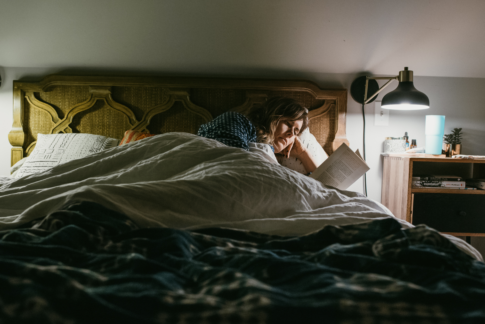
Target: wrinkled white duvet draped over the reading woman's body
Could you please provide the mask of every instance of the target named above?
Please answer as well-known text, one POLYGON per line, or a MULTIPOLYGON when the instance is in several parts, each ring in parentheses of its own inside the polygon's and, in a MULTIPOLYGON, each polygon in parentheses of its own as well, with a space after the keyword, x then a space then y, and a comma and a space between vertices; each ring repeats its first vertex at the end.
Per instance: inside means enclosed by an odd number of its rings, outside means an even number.
POLYGON ((39 174, 1 178, 0 229, 77 201, 121 212, 139 227, 230 227, 272 235, 393 217, 372 199, 327 188, 258 154, 193 134, 166 133, 39 174))

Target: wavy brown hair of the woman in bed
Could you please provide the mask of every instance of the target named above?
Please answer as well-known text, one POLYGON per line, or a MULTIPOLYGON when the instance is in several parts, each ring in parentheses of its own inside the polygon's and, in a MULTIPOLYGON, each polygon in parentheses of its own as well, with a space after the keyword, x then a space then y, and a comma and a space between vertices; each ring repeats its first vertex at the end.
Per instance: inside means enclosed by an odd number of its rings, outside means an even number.
POLYGON ((272 97, 262 105, 251 107, 248 119, 256 128, 259 143, 273 144, 276 126, 280 121, 303 120, 298 136, 308 127, 308 110, 293 98, 272 97))

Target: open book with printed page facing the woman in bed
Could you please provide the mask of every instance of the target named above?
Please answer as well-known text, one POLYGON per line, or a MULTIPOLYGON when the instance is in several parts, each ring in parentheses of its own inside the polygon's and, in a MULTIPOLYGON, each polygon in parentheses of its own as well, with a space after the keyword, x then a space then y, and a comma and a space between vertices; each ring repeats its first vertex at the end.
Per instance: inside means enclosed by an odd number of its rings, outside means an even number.
POLYGON ((328 186, 345 190, 369 169, 359 150, 354 153, 349 146, 342 144, 310 177, 328 186))

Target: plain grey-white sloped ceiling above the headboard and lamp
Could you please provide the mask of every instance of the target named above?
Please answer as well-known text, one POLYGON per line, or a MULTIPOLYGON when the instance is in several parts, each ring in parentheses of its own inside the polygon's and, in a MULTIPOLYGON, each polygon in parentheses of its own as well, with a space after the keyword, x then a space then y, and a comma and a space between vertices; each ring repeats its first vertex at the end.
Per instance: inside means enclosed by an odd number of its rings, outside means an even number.
POLYGON ((0 66, 485 78, 484 0, 3 0, 0 66))

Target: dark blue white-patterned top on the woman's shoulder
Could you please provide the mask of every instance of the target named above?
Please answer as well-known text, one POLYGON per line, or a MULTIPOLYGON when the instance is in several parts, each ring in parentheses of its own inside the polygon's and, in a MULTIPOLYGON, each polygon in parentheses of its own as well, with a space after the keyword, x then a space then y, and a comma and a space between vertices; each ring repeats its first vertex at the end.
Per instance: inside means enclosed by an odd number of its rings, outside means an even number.
POLYGON ((197 135, 247 151, 248 143, 256 142, 256 128, 253 123, 243 114, 236 112, 223 113, 209 123, 201 125, 197 135))

